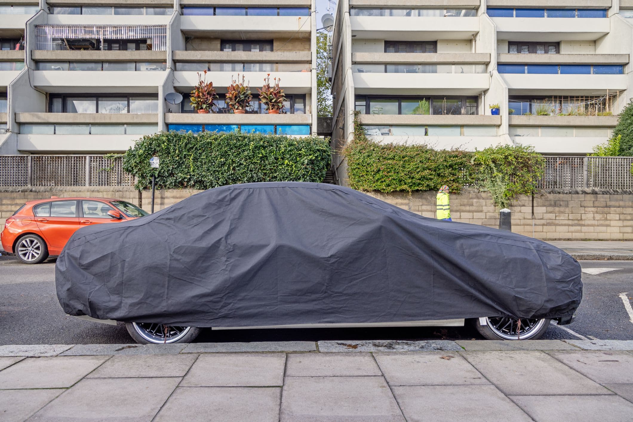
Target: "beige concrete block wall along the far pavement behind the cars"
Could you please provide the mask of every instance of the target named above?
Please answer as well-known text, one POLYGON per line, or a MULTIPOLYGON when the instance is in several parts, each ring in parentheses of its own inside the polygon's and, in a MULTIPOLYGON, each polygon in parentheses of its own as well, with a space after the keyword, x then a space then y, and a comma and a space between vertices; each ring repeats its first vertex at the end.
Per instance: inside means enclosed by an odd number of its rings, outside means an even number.
MULTIPOLYGON (((200 192, 194 189, 156 190, 154 211, 166 208, 200 192)), ((413 213, 435 218, 436 192, 413 194, 370 193, 413 213)), ((151 192, 133 187, 0 187, 0 228, 24 202, 58 197, 113 197, 141 204, 149 211, 151 192)), ((633 240, 633 190, 570 190, 546 191, 514 201, 512 231, 543 240, 633 240), (534 227, 532 224, 534 223, 534 227)), ((451 195, 451 216, 454 221, 498 227, 499 212, 487 192, 464 189, 451 195)))

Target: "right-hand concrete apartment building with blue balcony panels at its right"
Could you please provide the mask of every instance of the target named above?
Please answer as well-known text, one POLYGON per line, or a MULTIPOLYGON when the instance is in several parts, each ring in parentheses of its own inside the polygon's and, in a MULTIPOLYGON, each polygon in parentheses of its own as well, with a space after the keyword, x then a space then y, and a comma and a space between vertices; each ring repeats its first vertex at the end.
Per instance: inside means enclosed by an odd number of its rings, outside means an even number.
POLYGON ((356 111, 379 142, 586 154, 633 97, 632 0, 341 0, 331 40, 335 148, 356 111))

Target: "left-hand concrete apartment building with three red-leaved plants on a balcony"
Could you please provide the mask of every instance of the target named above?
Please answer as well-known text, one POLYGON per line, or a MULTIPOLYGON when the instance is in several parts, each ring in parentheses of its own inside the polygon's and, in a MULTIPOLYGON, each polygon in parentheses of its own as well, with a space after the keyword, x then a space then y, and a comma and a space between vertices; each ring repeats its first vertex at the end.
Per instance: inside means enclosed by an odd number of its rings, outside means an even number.
POLYGON ((161 130, 316 133, 315 28, 315 0, 2 0, 0 155, 122 152, 161 130), (189 103, 204 71, 210 114, 189 103), (238 74, 244 115, 224 102, 238 74), (268 74, 280 115, 258 101, 268 74))

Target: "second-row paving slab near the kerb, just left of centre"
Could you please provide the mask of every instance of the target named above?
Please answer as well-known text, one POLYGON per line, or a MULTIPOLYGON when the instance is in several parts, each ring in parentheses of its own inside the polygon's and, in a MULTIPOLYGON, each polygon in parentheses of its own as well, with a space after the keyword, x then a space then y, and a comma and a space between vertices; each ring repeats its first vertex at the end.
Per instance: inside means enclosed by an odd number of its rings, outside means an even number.
POLYGON ((201 354, 183 387, 273 387, 284 383, 284 353, 201 354))

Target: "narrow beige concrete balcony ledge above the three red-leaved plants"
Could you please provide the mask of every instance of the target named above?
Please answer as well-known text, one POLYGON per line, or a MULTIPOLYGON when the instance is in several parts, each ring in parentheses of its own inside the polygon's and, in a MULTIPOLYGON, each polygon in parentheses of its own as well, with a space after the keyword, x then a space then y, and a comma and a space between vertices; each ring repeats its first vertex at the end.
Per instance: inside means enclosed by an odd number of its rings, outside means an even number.
POLYGON ((312 53, 310 51, 173 51, 173 60, 207 63, 310 63, 312 53))

